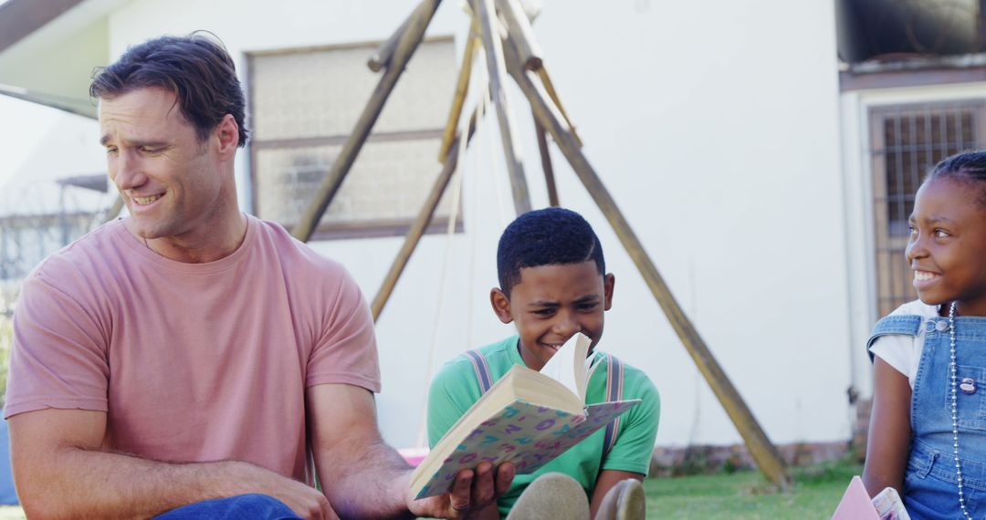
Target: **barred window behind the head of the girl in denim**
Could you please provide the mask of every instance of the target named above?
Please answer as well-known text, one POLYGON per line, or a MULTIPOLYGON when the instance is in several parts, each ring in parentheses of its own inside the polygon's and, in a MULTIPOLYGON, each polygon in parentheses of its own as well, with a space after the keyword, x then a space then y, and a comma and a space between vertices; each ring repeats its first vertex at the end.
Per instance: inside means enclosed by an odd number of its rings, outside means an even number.
POLYGON ((986 145, 984 109, 982 100, 870 109, 878 315, 917 297, 904 258, 914 192, 935 163, 986 145))

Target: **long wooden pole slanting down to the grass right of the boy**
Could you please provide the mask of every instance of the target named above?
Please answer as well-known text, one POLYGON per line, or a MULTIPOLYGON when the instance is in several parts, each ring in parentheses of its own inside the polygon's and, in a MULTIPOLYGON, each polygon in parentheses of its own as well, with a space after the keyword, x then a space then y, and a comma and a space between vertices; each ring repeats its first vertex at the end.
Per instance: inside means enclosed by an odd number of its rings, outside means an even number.
MULTIPOLYGON (((505 47, 510 46, 505 45, 505 47)), ((516 52, 513 53, 513 57, 508 53, 508 59, 517 60, 516 52)), ((777 486, 782 488, 789 487, 791 485, 791 477, 788 475, 787 467, 777 448, 767 438, 763 428, 756 422, 756 419, 746 406, 746 403, 743 402, 740 393, 733 386, 726 372, 723 371, 719 362, 716 361, 712 352, 709 351, 705 342, 698 335, 698 331, 695 330, 695 327, 688 320, 684 311, 681 310, 681 306, 674 299, 674 295, 671 294, 667 284, 665 284, 664 279, 658 272, 658 268, 644 250, 644 245, 637 238, 637 235, 633 232, 633 229, 616 206, 616 202, 609 195, 601 180, 599 180, 599 175, 593 169, 592 164, 583 155, 581 148, 578 146, 571 130, 558 112, 557 107, 551 103, 547 93, 543 89, 538 88, 538 85, 531 78, 531 73, 528 73, 521 67, 519 60, 511 65, 511 73, 517 80, 524 95, 528 97, 531 108, 534 111, 534 116, 551 133, 555 144, 558 145, 565 158, 571 163, 572 169, 575 170, 575 173, 582 180, 589 194, 596 201, 599 210, 606 217, 609 225, 616 231, 616 235, 619 237, 623 247, 626 248, 634 264, 636 264, 648 288, 654 294, 655 299, 658 300, 658 304, 661 305, 665 315, 668 316, 671 328, 674 329, 674 332, 680 338, 688 354, 695 361, 699 371, 712 388, 713 393, 719 398, 719 402, 722 403, 730 419, 736 424, 740 435, 746 443, 747 449, 749 449, 750 455, 756 461, 760 471, 777 486)))

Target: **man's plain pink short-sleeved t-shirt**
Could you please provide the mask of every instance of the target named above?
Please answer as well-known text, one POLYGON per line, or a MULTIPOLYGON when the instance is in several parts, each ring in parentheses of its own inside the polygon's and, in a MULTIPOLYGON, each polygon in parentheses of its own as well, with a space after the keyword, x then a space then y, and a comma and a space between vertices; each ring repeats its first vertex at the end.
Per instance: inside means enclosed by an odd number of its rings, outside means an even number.
POLYGON ((114 221, 25 281, 4 416, 106 412, 107 449, 311 484, 305 389, 321 383, 380 391, 373 318, 342 266, 252 217, 240 248, 205 264, 114 221))

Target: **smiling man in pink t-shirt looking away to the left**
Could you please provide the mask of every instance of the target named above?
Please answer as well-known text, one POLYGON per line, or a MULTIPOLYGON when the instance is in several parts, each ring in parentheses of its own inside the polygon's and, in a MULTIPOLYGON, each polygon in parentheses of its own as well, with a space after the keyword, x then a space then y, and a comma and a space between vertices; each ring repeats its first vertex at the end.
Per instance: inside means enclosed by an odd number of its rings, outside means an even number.
POLYGON ((244 96, 219 43, 130 47, 91 94, 129 216, 22 289, 4 416, 29 515, 463 518, 509 487, 483 463, 412 499, 359 288, 239 210, 244 96))

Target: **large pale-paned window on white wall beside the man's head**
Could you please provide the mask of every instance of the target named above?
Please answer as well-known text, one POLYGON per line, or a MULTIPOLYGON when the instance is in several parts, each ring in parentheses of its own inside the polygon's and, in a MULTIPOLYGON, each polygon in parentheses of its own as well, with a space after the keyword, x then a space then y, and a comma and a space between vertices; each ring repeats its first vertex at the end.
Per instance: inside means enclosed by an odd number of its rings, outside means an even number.
MULTIPOLYGON (((248 56, 253 210, 294 227, 380 80, 376 43, 248 56)), ((421 43, 314 238, 403 234, 441 169, 442 131, 456 87, 451 37, 421 43)), ((432 227, 448 226, 451 197, 432 227)))

